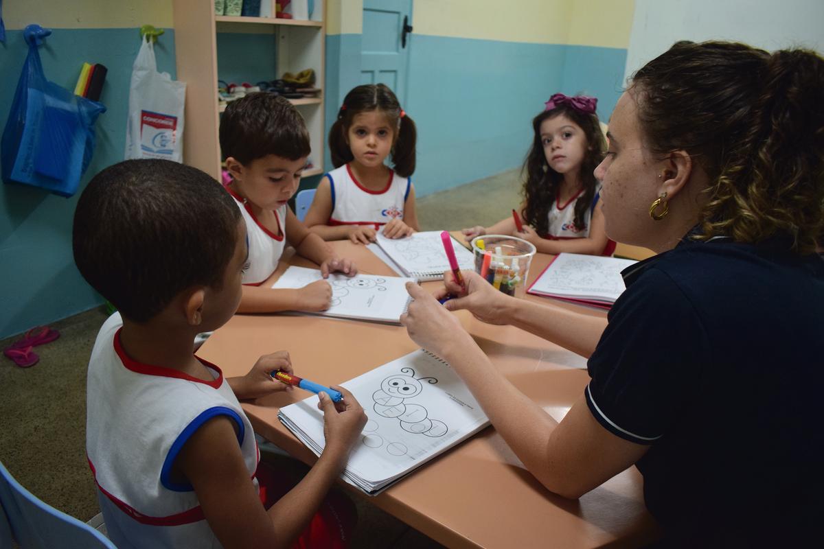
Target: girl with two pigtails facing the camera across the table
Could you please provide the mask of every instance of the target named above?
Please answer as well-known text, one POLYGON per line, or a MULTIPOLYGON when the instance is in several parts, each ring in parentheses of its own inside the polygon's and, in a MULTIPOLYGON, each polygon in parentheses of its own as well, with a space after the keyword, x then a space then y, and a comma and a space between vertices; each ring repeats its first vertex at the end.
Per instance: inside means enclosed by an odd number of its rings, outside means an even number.
POLYGON ((368 244, 378 230, 403 238, 419 230, 411 175, 414 122, 383 84, 346 95, 329 133, 335 170, 325 174, 307 212, 309 230, 324 240, 368 244), (390 168, 384 161, 391 156, 390 168))

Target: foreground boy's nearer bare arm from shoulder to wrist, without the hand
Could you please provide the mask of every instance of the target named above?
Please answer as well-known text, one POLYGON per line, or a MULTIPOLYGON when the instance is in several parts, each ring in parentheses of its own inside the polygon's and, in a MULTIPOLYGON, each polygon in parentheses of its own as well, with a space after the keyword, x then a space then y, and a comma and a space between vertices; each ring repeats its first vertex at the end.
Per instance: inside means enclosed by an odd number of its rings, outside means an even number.
POLYGON ((240 549, 289 547, 321 506, 342 463, 340 456, 321 454, 298 485, 300 490, 289 492, 288 513, 267 513, 250 480, 232 420, 217 416, 194 431, 180 450, 176 468, 194 486, 204 517, 222 546, 240 549))

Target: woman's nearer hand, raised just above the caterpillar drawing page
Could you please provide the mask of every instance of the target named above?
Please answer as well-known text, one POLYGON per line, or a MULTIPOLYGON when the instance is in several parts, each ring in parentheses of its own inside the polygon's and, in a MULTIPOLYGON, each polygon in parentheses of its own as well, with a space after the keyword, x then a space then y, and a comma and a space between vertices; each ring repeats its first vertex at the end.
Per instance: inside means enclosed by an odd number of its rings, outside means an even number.
POLYGON ((406 291, 414 301, 408 312, 400 315, 400 323, 406 327, 412 341, 444 359, 452 349, 472 342, 457 317, 427 291, 414 282, 406 283, 406 291))

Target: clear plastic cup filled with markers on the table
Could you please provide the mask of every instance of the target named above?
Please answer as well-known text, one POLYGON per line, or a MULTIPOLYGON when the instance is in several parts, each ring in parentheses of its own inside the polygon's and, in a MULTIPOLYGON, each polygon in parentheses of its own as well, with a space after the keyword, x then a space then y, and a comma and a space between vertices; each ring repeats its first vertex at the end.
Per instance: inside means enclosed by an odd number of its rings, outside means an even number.
POLYGON ((481 235, 472 239, 475 272, 507 295, 523 297, 535 245, 507 235, 481 235))

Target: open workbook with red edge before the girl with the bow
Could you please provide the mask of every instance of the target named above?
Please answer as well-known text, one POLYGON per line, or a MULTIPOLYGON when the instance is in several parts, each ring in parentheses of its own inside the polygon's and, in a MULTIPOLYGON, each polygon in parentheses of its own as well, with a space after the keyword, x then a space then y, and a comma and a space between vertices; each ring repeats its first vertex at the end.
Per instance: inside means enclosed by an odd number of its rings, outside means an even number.
POLYGON ((527 293, 609 309, 625 290, 620 272, 633 263, 599 255, 558 254, 527 293))

